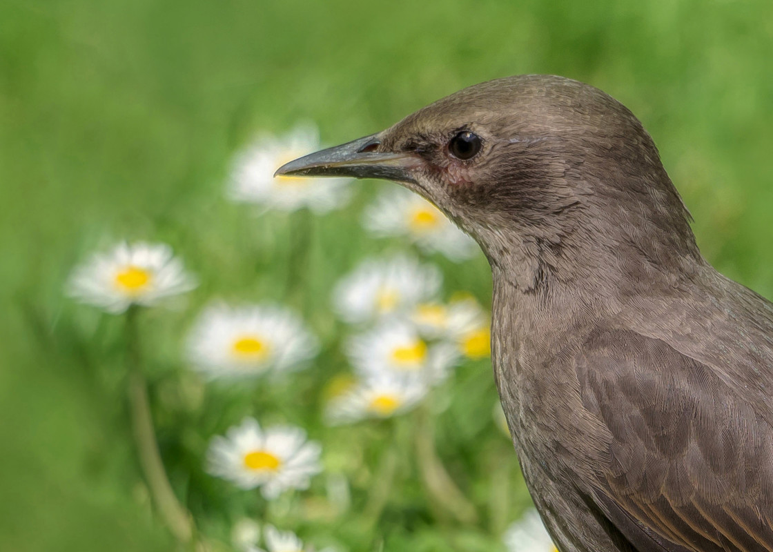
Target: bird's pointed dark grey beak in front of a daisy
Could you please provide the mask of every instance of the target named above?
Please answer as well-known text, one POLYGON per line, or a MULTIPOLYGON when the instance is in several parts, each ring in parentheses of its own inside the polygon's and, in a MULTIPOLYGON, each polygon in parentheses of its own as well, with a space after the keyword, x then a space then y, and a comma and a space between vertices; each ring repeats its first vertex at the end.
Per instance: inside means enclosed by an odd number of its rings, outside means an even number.
POLYGON ((415 183, 411 169, 420 162, 417 155, 374 151, 379 144, 378 135, 359 138, 286 163, 274 176, 352 176, 415 183))

